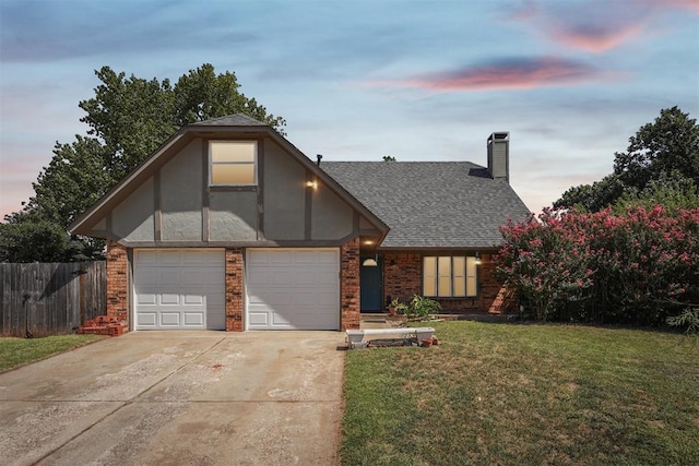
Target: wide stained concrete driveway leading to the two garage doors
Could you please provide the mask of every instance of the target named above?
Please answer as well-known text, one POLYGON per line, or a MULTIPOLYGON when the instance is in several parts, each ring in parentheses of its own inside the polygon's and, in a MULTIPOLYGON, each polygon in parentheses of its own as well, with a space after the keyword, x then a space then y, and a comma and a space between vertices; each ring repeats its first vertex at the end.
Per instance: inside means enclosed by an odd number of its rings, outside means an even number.
POLYGON ((134 332, 0 374, 3 465, 336 464, 344 334, 134 332))

